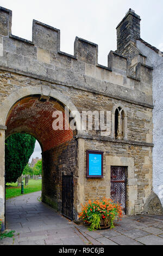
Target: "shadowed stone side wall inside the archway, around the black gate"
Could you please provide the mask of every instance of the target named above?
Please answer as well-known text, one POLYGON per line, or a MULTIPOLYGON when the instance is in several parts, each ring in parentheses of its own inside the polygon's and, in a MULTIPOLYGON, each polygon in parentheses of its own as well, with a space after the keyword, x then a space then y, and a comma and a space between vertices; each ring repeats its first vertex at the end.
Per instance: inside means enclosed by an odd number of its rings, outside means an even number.
MULTIPOLYGON (((72 139, 49 151, 42 153, 42 201, 61 212, 62 173, 77 179, 77 141, 72 139)), ((77 188, 74 182, 74 201, 77 200, 77 188)), ((75 206, 76 204, 74 204, 75 206)), ((74 208, 74 215, 77 209, 74 208)))

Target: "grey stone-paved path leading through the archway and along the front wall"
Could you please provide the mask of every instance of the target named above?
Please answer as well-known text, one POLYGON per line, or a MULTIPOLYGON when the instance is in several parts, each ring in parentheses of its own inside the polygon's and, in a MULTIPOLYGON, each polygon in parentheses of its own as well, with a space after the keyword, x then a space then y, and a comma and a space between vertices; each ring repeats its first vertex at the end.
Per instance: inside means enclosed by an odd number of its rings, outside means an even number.
POLYGON ((41 203, 41 192, 8 199, 7 228, 0 245, 163 245, 163 216, 124 217, 115 229, 88 231, 41 203))

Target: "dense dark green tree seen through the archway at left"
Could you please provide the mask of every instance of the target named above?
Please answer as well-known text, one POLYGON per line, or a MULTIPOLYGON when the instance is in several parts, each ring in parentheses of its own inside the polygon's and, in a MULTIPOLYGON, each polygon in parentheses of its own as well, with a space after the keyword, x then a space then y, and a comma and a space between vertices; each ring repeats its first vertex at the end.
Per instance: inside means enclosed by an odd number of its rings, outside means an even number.
POLYGON ((22 175, 35 147, 36 139, 29 134, 16 133, 5 140, 5 183, 16 182, 22 175))

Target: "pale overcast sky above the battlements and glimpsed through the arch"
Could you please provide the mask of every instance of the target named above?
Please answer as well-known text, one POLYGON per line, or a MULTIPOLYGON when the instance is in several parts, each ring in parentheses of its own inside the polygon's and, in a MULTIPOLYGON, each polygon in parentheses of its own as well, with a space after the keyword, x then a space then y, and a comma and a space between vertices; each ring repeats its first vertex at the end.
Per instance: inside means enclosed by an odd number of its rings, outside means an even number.
MULTIPOLYGON (((104 66, 116 50, 116 27, 131 8, 141 17, 141 38, 163 51, 163 0, 0 0, 0 5, 12 10, 12 34, 32 40, 32 21, 41 21, 60 29, 61 51, 73 55, 76 36, 98 44, 98 63, 104 66)), ((32 157, 41 158, 39 142, 32 157)))

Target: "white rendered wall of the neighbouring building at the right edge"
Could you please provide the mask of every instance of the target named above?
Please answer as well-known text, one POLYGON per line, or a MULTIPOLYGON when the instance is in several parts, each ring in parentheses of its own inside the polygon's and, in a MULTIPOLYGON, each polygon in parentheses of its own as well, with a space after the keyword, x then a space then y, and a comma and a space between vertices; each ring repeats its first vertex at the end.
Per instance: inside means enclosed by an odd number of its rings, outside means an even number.
POLYGON ((163 205, 163 57, 139 40, 137 48, 153 67, 153 191, 163 205))

